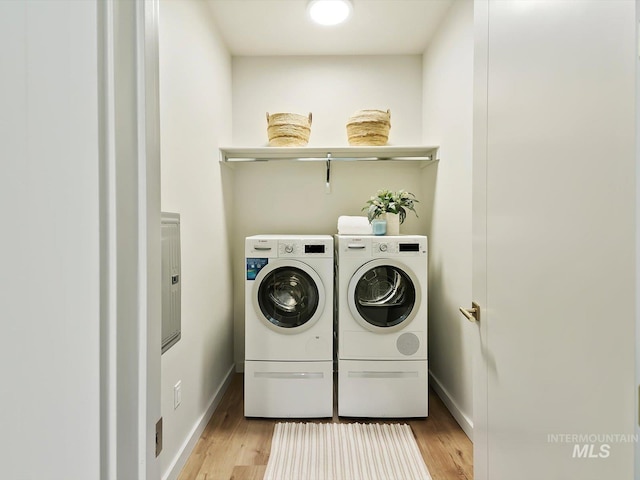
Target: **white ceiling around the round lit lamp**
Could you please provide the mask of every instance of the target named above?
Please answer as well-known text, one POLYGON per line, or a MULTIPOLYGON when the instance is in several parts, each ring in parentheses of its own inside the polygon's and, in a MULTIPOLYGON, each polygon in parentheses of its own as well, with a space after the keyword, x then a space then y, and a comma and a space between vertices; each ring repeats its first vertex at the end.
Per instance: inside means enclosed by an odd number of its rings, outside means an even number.
POLYGON ((311 22, 307 0, 207 0, 232 55, 422 54, 453 0, 352 0, 342 25, 311 22))

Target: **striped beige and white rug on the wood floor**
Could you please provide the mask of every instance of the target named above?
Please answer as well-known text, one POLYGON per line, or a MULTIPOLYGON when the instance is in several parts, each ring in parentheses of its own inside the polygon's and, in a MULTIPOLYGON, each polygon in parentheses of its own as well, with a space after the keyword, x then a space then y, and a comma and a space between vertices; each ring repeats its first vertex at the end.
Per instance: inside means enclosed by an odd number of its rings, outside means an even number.
POLYGON ((409 425, 277 423, 265 480, 431 480, 409 425))

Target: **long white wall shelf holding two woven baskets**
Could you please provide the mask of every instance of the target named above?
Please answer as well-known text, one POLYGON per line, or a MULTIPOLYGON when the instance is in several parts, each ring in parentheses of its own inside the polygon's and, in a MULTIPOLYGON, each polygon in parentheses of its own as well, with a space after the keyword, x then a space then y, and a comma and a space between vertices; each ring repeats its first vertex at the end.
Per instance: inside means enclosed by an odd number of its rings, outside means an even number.
POLYGON ((438 147, 221 147, 220 162, 293 161, 400 161, 429 164, 438 160, 438 147))

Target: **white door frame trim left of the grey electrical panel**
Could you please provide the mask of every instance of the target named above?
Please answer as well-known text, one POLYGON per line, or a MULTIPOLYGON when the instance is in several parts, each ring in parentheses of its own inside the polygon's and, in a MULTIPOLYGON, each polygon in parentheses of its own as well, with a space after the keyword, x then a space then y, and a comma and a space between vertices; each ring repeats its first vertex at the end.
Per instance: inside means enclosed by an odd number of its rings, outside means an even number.
POLYGON ((100 478, 157 480, 159 0, 98 6, 100 478))

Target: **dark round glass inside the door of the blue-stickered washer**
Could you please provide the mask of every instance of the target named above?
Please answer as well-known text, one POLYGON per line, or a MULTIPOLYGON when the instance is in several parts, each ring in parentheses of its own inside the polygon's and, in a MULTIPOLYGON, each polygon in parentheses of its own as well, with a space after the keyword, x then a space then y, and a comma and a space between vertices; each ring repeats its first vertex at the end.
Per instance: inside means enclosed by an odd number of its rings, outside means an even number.
POLYGON ((311 326, 321 313, 321 294, 311 272, 285 265, 264 273, 256 279, 259 283, 254 300, 268 325, 278 329, 311 326))

